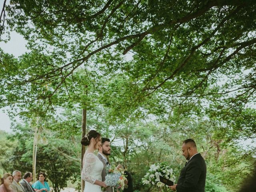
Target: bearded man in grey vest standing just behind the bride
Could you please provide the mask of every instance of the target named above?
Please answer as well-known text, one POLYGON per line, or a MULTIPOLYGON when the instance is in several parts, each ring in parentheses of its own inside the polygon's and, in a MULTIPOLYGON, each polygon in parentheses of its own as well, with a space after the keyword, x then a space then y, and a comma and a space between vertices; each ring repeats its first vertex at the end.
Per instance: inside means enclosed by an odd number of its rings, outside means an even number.
MULTIPOLYGON (((107 156, 109 156, 110 153, 111 153, 110 140, 108 138, 101 138, 101 146, 99 147, 99 152, 97 156, 102 161, 104 166, 101 173, 102 181, 105 181, 106 166, 110 165, 107 158, 107 156)), ((108 187, 106 192, 112 192, 112 188, 108 187)))

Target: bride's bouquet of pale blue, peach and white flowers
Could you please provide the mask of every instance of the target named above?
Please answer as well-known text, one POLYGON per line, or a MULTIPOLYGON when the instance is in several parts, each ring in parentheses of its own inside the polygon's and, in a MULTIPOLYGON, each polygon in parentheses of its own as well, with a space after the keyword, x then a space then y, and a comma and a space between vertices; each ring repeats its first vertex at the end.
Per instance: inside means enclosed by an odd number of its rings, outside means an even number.
MULTIPOLYGON (((127 188, 127 179, 125 177, 123 169, 116 169, 115 166, 108 165, 106 167, 105 183, 107 186, 115 188, 116 192, 122 192, 124 188, 127 188)), ((106 188, 103 189, 103 191, 106 188)))

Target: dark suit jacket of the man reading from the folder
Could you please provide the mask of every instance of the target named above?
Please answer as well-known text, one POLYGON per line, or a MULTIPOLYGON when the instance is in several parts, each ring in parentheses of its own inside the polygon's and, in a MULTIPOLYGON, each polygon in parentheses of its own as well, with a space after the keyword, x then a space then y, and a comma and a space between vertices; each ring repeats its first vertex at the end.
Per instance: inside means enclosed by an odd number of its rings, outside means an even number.
POLYGON ((188 161, 180 172, 177 192, 204 192, 206 180, 206 164, 200 154, 188 161))

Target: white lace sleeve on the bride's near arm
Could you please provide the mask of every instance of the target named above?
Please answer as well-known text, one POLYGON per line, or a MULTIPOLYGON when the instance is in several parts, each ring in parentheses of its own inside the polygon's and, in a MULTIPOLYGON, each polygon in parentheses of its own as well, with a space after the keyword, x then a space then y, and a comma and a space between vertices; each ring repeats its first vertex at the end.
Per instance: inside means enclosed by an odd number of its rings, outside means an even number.
POLYGON ((88 153, 84 160, 84 166, 82 170, 82 180, 94 184, 95 178, 92 178, 92 168, 96 162, 96 156, 92 153, 88 153))

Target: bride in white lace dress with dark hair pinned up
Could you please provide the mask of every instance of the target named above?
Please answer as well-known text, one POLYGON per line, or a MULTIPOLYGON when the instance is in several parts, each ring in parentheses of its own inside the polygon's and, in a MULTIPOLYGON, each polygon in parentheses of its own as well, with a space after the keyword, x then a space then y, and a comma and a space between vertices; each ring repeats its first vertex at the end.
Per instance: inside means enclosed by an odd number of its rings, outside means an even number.
POLYGON ((88 146, 83 158, 82 180, 85 181, 84 192, 101 192, 101 186, 107 187, 102 182, 101 173, 103 163, 94 155, 94 150, 101 146, 100 134, 95 130, 90 130, 81 141, 81 144, 88 146))

